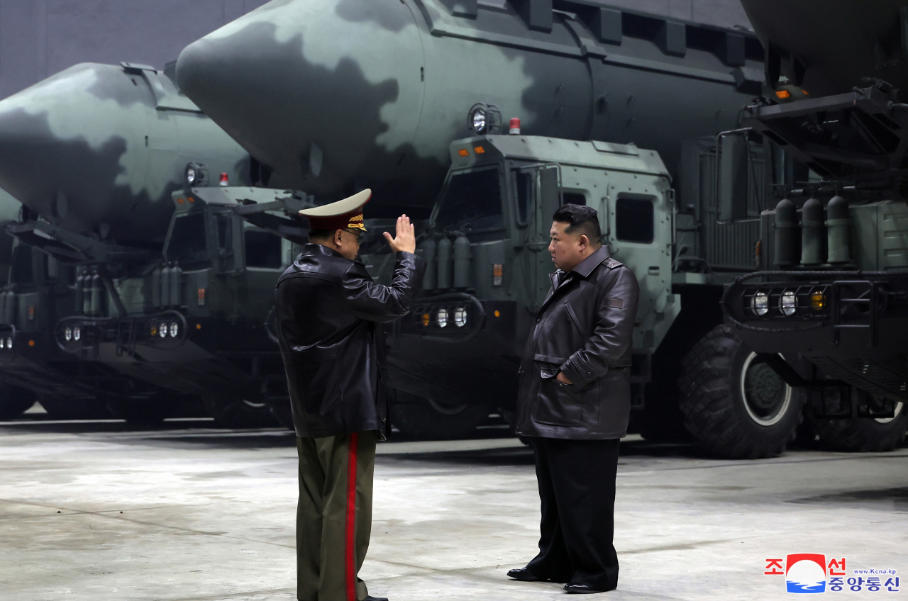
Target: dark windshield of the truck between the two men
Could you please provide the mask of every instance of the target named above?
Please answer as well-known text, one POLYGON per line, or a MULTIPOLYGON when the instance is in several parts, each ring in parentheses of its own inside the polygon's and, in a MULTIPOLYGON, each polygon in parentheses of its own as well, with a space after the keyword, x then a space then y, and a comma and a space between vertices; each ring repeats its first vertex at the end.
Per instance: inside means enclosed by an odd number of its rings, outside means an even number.
POLYGON ((504 227, 498 168, 454 173, 435 215, 435 227, 470 231, 504 227))

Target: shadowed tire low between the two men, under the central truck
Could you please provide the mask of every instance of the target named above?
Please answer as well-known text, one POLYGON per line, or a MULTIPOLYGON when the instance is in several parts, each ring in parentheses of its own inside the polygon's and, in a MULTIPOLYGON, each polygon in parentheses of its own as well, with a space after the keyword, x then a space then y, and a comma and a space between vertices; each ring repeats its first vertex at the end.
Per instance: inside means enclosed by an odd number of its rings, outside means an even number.
POLYGON ((489 413, 485 405, 449 405, 399 391, 391 406, 391 423, 408 438, 469 438, 489 413))

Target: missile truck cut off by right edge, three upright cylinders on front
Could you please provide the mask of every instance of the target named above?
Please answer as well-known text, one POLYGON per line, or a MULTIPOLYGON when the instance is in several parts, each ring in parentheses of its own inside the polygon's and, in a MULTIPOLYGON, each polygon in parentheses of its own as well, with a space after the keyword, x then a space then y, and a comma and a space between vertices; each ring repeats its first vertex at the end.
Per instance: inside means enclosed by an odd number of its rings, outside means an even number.
POLYGON ((778 203, 759 216, 761 271, 725 293, 728 329, 804 399, 807 436, 894 448, 908 427, 905 8, 742 4, 768 52, 763 99, 739 134, 813 177, 775 187, 778 203))

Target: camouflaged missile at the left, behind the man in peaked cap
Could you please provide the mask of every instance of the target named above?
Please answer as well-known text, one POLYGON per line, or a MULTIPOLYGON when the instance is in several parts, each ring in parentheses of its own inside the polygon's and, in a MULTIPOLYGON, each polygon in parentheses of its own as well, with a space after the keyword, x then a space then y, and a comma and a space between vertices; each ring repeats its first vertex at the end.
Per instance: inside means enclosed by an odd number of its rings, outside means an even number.
POLYGON ((159 245, 200 157, 248 184, 248 154, 152 67, 76 64, 0 101, 0 187, 80 234, 159 245))

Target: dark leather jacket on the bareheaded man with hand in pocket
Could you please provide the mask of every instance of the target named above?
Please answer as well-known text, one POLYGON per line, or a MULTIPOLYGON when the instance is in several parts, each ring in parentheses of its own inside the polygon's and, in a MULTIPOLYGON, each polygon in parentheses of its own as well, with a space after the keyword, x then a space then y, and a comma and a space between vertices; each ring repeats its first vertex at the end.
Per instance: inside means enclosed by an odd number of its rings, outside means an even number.
POLYGON ((551 275, 520 361, 517 432, 543 438, 621 438, 630 418, 637 277, 603 246, 551 275), (562 384, 558 371, 572 382, 562 384))

